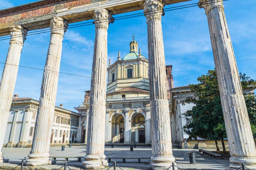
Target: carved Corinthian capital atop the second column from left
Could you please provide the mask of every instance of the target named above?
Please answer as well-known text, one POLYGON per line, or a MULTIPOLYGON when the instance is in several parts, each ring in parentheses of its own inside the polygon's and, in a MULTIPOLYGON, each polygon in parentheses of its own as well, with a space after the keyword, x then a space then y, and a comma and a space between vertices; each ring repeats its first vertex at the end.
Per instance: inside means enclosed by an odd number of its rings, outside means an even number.
POLYGON ((60 34, 64 36, 64 33, 68 29, 68 22, 60 17, 53 17, 50 22, 51 34, 60 34))

